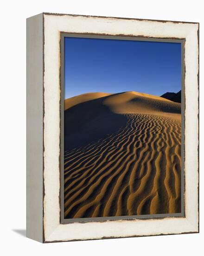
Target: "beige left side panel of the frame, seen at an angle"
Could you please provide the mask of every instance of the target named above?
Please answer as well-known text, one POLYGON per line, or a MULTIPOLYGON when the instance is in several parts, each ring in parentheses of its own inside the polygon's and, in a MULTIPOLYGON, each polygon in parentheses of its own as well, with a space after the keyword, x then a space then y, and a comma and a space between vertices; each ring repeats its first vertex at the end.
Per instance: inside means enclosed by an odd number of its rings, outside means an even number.
POLYGON ((26 20, 26 236, 43 242, 43 13, 26 20))

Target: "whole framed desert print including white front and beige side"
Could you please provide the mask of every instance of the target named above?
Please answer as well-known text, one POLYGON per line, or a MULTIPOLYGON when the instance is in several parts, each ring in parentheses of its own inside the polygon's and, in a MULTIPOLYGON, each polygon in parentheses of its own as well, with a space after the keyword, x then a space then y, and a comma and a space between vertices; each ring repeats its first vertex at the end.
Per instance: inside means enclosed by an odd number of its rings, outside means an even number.
POLYGON ((27 237, 199 232, 199 24, 27 19, 27 237))

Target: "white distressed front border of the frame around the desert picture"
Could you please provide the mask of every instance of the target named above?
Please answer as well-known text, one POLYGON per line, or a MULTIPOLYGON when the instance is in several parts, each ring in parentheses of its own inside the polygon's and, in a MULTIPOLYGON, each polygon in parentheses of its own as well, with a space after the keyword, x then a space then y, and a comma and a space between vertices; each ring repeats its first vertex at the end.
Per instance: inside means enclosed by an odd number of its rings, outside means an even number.
POLYGON ((198 232, 198 23, 43 14, 43 242, 198 232), (60 32, 185 38, 185 217, 60 224, 60 32))

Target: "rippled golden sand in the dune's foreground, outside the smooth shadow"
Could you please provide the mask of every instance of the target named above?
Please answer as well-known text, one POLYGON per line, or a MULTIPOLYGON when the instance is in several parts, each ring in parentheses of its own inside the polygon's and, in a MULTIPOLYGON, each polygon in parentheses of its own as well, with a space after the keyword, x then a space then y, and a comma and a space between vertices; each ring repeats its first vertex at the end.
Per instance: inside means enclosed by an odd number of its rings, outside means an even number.
POLYGON ((64 152, 64 217, 181 211, 180 115, 121 114, 105 138, 64 152))

